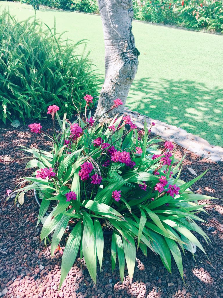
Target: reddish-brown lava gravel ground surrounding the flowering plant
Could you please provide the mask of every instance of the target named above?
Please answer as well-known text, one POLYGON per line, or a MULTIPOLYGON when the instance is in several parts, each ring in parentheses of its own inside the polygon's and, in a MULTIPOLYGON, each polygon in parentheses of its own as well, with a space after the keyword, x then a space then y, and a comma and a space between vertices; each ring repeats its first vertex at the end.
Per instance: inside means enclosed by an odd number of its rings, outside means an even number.
MULTIPOLYGON (((43 128, 48 125, 43 121, 43 128)), ((183 257, 184 279, 180 278, 177 266, 173 263, 172 275, 167 272, 158 256, 148 252, 146 258, 141 252, 137 255, 137 263, 130 285, 127 271, 125 280, 119 281, 119 268, 114 274, 111 270, 111 254, 109 239, 104 251, 103 271, 98 270, 97 285, 94 287, 85 267, 84 260, 77 259, 70 270, 65 285, 57 291, 60 277, 61 255, 50 257, 50 247, 40 242, 41 226, 35 228, 38 205, 32 193, 25 196, 25 203, 19 207, 13 201, 5 203, 5 190, 15 187, 16 179, 29 175, 30 169, 24 170, 28 159, 23 151, 15 150, 18 145, 35 147, 32 135, 26 126, 18 129, 0 128, 0 297, 89 297, 89 298, 166 298, 166 297, 223 297, 223 207, 221 200, 214 200, 208 206, 207 214, 202 218, 208 221, 202 228, 211 238, 207 245, 201 240, 207 255, 197 251, 196 261, 192 255, 183 257), (2 162, 2 160, 7 162, 2 162)), ((43 136, 37 136, 42 148, 48 148, 50 142, 43 136)), ((205 159, 181 147, 176 147, 176 157, 186 154, 181 179, 188 181, 194 176, 186 166, 201 174, 211 168, 200 181, 194 185, 195 192, 216 196, 223 199, 223 163, 207 162, 205 159)), ((200 204, 202 202, 200 201, 200 204)))

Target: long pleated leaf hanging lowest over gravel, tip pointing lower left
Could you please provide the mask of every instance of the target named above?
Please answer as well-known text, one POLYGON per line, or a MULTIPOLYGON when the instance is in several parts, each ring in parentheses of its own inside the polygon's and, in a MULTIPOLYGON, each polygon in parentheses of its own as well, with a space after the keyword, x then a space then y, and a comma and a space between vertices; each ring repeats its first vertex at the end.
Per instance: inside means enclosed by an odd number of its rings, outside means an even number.
POLYGON ((73 266, 73 263, 75 262, 78 249, 80 246, 80 242, 81 242, 81 221, 78 221, 76 226, 71 231, 64 249, 62 264, 61 264, 59 289, 61 288, 65 278, 67 277, 67 274, 69 273, 70 268, 73 266))

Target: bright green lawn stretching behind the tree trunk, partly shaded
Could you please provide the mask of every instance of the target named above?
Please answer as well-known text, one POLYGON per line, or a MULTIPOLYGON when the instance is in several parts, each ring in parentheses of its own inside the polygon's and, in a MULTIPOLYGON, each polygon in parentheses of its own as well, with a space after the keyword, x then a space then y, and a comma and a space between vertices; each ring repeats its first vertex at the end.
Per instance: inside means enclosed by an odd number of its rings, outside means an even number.
MULTIPOLYGON (((31 6, 1 2, 19 20, 31 6)), ((64 38, 88 39, 90 58, 104 73, 100 16, 40 8, 37 17, 64 38)), ((223 36, 133 22, 139 69, 127 106, 223 146, 223 36)))

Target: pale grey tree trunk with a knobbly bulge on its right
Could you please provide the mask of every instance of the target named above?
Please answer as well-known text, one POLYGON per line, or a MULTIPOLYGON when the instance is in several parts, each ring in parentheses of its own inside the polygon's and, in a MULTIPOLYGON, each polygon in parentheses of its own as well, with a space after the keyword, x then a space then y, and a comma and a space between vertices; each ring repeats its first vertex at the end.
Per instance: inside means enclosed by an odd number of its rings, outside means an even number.
POLYGON ((132 0, 98 0, 105 42, 105 81, 95 117, 99 117, 120 98, 123 105, 109 112, 123 113, 128 91, 138 68, 139 51, 132 33, 132 0))

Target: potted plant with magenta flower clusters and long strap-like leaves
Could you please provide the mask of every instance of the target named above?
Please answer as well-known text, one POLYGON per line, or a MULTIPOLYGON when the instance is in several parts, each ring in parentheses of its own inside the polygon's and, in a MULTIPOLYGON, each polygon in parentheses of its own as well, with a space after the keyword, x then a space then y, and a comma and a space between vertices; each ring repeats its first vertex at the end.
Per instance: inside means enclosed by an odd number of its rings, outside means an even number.
MULTIPOLYGON (((86 95, 87 115, 91 96, 86 95)), ((115 108, 122 102, 114 100, 115 108)), ((50 106, 48 113, 54 117, 58 107, 50 106)), ((47 134, 52 139, 50 152, 29 149, 33 159, 27 168, 33 175, 23 188, 16 189, 15 201, 23 203, 24 193, 36 190, 42 199, 37 225, 50 207, 51 213, 44 221, 41 240, 51 235, 51 256, 62 253, 61 238, 67 225, 70 233, 62 254, 60 287, 78 255, 84 255, 89 274, 96 283, 97 258, 102 268, 104 234, 112 233, 111 260, 114 270, 118 257, 120 278, 123 281, 125 261, 132 282, 136 251, 147 249, 158 254, 171 272, 171 254, 183 278, 181 253, 185 249, 193 254, 196 247, 205 253, 197 235, 208 242, 209 238, 195 221, 205 205, 198 200, 211 197, 198 195, 190 186, 205 173, 189 182, 179 179, 182 160, 174 157, 174 144, 150 139, 150 128, 137 130, 129 116, 106 119, 101 123, 91 117, 78 118, 74 123, 56 117, 61 131, 47 134), (173 176, 176 175, 176 176, 173 176), (70 230, 71 230, 70 229, 70 230), (191 232, 192 231, 192 232, 191 232)), ((155 123, 151 123, 151 126, 155 123)), ((40 123, 29 125, 35 134, 42 133, 40 123)), ((55 131, 54 131, 55 132, 55 131)), ((206 172, 206 171, 205 171, 206 172)), ((19 185, 20 187, 20 185, 19 185)), ((7 190, 10 193, 10 190, 7 190)), ((10 197, 8 197, 9 199, 10 197)), ((48 238, 49 240, 49 238, 48 238)))

